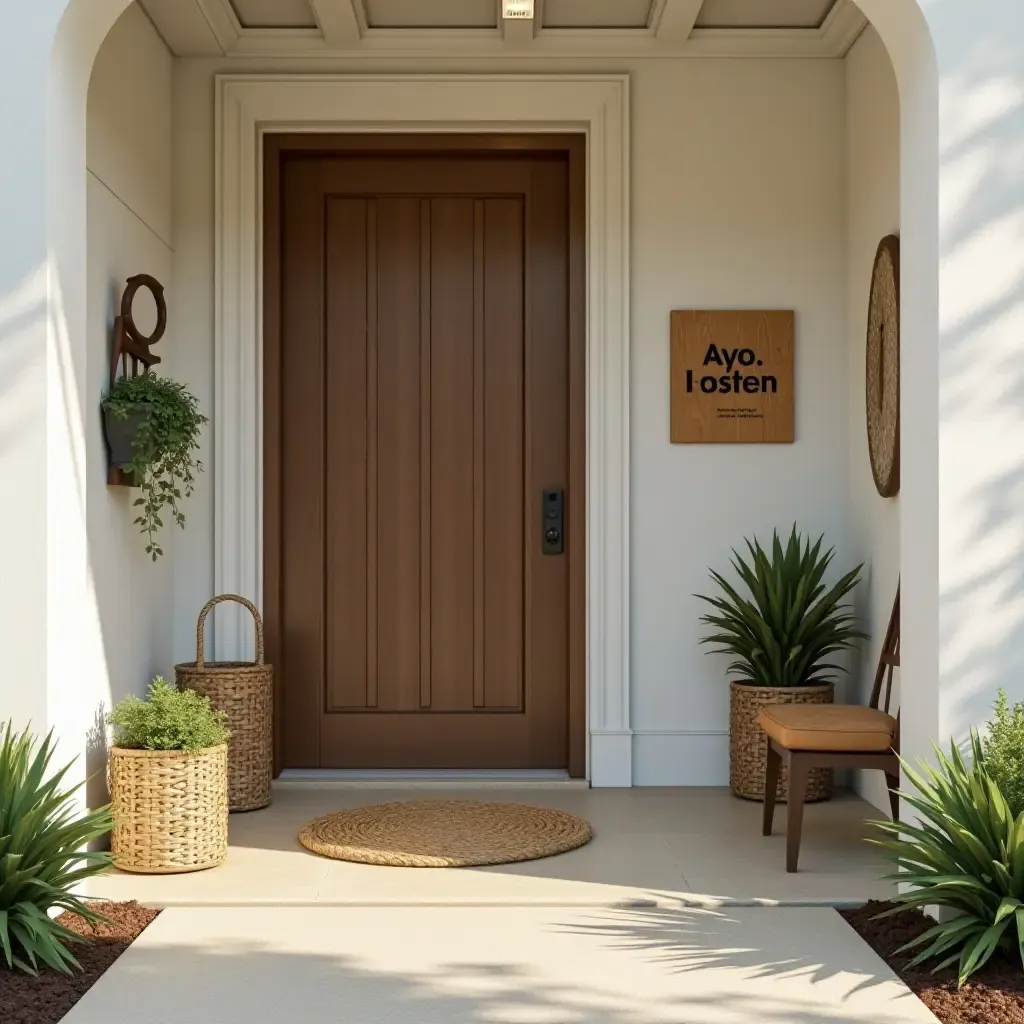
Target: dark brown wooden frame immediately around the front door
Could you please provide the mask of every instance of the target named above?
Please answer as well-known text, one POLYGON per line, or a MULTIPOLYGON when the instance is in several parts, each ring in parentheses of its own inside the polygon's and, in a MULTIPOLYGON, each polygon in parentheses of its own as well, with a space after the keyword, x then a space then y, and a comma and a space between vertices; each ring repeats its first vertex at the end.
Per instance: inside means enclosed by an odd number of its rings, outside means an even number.
MULTIPOLYGON (((487 157, 495 154, 561 154, 568 171, 568 477, 570 501, 566 509, 568 562, 568 743, 569 775, 584 778, 587 772, 587 675, 586 666, 586 145, 580 134, 409 134, 367 135, 275 132, 263 138, 263 618, 266 655, 276 663, 281 639, 282 573, 282 222, 281 174, 286 154, 377 157, 382 155, 430 157, 487 157)), ((284 767, 284 690, 281 676, 274 679, 274 773, 284 767)))

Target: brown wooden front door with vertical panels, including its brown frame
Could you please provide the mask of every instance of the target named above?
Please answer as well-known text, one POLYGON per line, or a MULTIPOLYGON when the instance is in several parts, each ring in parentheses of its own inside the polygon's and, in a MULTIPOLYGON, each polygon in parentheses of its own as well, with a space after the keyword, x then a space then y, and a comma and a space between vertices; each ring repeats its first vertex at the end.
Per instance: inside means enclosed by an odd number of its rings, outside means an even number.
POLYGON ((334 144, 267 161, 281 764, 582 774, 578 150, 334 144))

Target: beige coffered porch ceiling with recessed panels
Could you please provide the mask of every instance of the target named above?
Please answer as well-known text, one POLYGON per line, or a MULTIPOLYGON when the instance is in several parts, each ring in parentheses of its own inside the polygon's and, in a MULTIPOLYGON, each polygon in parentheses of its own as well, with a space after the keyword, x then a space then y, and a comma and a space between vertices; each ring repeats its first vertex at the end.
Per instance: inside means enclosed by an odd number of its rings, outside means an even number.
POLYGON ((844 56, 866 22, 852 0, 137 0, 181 56, 722 54, 844 56))

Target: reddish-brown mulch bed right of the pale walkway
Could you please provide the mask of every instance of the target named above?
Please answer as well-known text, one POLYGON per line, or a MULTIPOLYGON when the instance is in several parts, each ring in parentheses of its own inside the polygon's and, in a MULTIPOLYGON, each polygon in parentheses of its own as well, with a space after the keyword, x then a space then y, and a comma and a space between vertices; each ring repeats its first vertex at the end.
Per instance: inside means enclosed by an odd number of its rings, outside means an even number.
POLYGON ((921 910, 874 920, 890 907, 889 903, 871 902, 840 912, 942 1024, 1024 1024, 1024 970, 1019 959, 993 957, 957 991, 952 968, 932 974, 927 964, 907 967, 913 952, 896 953, 935 922, 921 910))

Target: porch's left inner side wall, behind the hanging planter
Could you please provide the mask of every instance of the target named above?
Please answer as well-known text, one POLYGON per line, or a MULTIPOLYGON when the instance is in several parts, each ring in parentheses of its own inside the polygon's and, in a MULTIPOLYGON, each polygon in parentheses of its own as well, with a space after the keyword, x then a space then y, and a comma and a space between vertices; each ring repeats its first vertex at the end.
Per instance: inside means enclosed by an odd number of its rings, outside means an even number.
MULTIPOLYGON (((106 485, 106 452, 98 413, 109 384, 112 326, 125 280, 150 273, 173 296, 171 96, 173 59, 133 4, 99 51, 88 97, 88 366, 87 393, 96 403, 87 419, 86 466, 89 561, 102 636, 93 673, 95 714, 129 692, 142 693, 151 677, 172 664, 173 539, 154 564, 133 524, 137 490, 106 485)), ((136 323, 155 324, 147 292, 136 300, 136 323)), ((173 374, 180 334, 173 319, 154 351, 173 374)), ((202 528, 202 527, 201 527, 202 528)), ((170 531, 168 531, 170 535, 170 531)), ((90 751, 90 770, 102 752, 90 751)))

